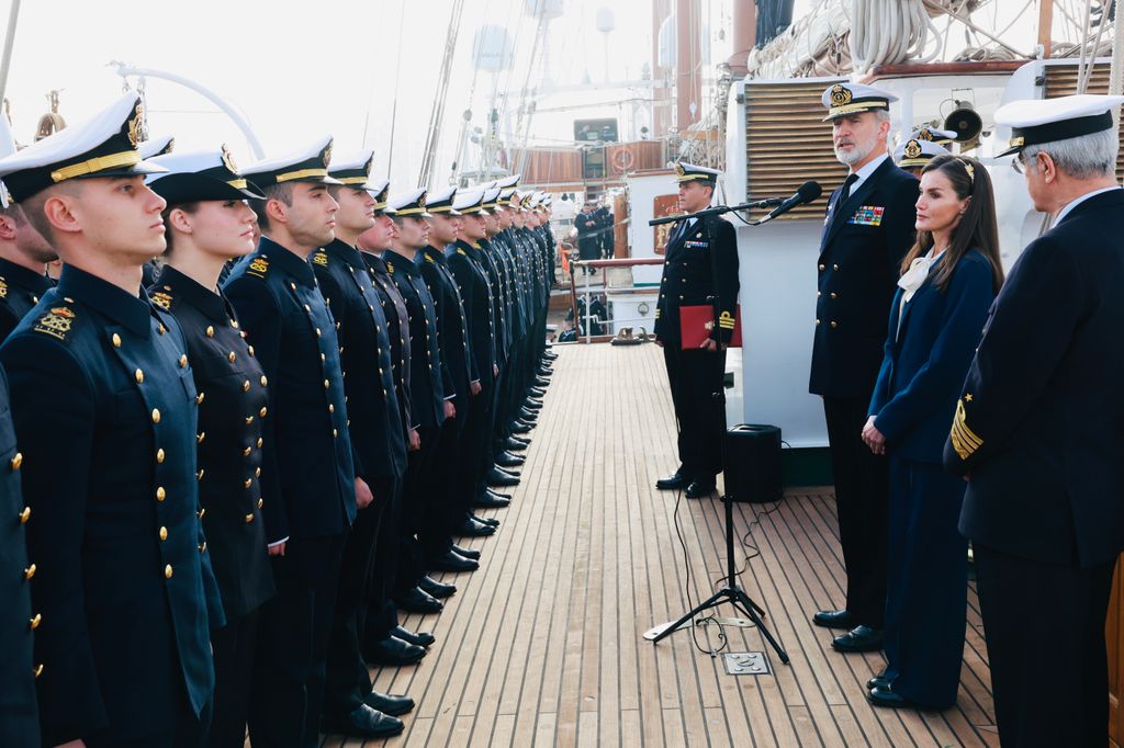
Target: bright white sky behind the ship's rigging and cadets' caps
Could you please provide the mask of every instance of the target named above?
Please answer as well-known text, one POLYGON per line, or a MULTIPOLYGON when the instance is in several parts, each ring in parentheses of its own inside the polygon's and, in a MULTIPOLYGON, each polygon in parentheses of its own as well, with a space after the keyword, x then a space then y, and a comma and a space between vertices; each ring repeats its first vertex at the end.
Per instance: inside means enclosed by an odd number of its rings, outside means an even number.
MULTIPOLYGON (((524 12, 526 1, 465 1, 437 161, 441 183, 450 173, 470 91, 478 100, 473 124, 486 124, 491 74, 479 74, 473 86, 472 42, 480 26, 508 29, 517 61, 509 74, 499 76, 499 88, 517 93, 523 85, 526 67, 520 63, 535 35, 524 12)), ((7 26, 9 2, 0 0, 0 27, 7 26)), ((640 77, 650 56, 650 0, 562 4, 565 13, 552 22, 549 40, 555 83, 604 79, 606 45, 595 16, 606 6, 616 16, 609 66, 618 79, 640 77)), ((118 60, 174 72, 219 93, 243 111, 268 154, 329 133, 336 138, 335 153, 374 148, 381 176, 387 174, 397 91, 390 176, 405 189, 418 176, 451 7, 451 0, 24 0, 6 91, 12 129, 20 143, 31 142, 51 89, 63 90, 60 111, 69 122, 85 119, 123 90, 121 79, 108 66, 118 60)), ((610 103, 583 109, 580 116, 619 111, 618 93, 581 95, 610 103)), ((198 94, 149 77, 147 101, 149 135, 171 133, 176 149, 184 150, 225 142, 239 163, 253 161, 234 124, 198 94)), ((541 116, 535 134, 572 137, 571 119, 541 116)))

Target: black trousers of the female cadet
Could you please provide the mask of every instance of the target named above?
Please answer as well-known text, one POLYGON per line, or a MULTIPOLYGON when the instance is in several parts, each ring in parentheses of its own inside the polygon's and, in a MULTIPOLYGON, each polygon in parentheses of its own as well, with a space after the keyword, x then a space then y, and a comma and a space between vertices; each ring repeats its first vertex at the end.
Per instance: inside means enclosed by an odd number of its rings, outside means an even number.
POLYGON ((260 608, 211 631, 215 653, 215 715, 208 748, 242 748, 246 742, 246 714, 257 648, 260 608))

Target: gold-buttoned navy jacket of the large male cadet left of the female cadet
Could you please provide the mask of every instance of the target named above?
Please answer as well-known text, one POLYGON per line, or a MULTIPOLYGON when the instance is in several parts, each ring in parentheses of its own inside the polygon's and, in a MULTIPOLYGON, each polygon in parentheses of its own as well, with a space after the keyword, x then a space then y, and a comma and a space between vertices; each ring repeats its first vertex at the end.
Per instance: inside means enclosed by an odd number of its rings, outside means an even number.
POLYGON ((31 511, 43 741, 142 738, 196 712, 225 620, 179 325, 66 266, 0 348, 31 511))

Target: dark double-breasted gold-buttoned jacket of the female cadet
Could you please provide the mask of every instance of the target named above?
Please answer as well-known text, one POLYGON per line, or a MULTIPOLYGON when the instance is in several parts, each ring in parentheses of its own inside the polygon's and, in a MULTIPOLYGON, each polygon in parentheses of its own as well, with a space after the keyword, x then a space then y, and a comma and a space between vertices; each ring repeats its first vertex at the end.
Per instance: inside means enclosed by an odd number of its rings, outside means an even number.
POLYGON ((274 592, 262 522, 262 450, 254 447, 271 417, 269 389, 224 297, 170 265, 148 293, 188 341, 199 403, 199 503, 223 609, 234 621, 274 592))

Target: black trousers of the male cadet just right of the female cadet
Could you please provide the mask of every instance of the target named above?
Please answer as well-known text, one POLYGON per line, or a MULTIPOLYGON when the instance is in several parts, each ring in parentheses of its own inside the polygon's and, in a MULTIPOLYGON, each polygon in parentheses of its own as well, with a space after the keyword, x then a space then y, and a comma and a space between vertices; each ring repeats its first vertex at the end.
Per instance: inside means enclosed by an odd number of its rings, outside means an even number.
POLYGON ((319 745, 325 659, 345 533, 289 538, 271 556, 277 595, 262 606, 250 740, 254 748, 319 745))

